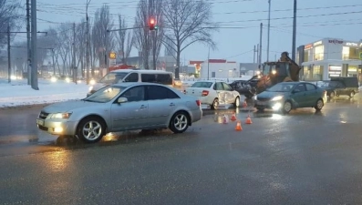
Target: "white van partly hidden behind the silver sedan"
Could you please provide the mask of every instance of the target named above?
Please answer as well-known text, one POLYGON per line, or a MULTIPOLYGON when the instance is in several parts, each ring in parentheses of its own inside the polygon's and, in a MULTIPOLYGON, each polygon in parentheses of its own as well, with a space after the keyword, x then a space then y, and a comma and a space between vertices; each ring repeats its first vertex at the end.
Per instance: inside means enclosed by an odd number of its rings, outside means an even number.
POLYGON ((173 87, 173 74, 163 70, 134 70, 119 69, 110 71, 102 77, 96 84, 89 87, 88 96, 102 87, 121 82, 146 82, 160 83, 162 85, 173 87))

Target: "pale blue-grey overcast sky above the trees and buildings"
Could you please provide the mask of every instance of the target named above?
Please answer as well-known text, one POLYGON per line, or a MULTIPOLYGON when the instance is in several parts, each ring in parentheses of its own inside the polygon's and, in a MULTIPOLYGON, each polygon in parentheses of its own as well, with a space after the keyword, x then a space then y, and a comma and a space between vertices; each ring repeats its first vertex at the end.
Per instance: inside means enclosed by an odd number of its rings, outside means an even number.
MULTIPOLYGON (((263 30, 263 61, 266 60, 268 0, 208 0, 212 3, 213 19, 220 26, 243 28, 221 28, 213 35, 218 49, 211 58, 226 58, 240 63, 253 62, 253 46, 259 43, 260 23, 263 30)), ((291 52, 293 0, 271 0, 270 60, 283 51, 291 52)), ((296 46, 315 42, 324 37, 359 41, 362 36, 361 0, 297 0, 296 46)), ((24 0, 25 2, 25 0, 24 0)), ((87 0, 37 0, 38 30, 57 26, 64 22, 79 22, 85 16, 87 0), (51 23, 49 23, 51 22, 51 23)), ((97 8, 108 4, 111 14, 125 15, 129 26, 133 25, 138 1, 91 0, 89 15, 97 8)), ((24 10, 25 14, 25 10, 24 10)), ((116 18, 115 18, 116 20, 116 18)), ((17 40, 26 40, 18 35, 17 40)), ((131 53, 136 56, 134 48, 131 53)), ((163 52, 162 52, 163 55, 163 52)), ((208 47, 201 44, 189 46, 181 54, 181 60, 205 60, 208 47)))

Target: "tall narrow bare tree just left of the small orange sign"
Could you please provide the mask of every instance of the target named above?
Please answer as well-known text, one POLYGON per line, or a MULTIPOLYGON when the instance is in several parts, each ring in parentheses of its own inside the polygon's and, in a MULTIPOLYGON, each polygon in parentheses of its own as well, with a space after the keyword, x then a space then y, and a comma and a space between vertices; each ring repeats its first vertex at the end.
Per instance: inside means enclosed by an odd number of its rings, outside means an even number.
MULTIPOLYGON (((105 53, 106 46, 109 51, 114 48, 114 33, 109 33, 107 30, 111 30, 113 25, 112 17, 109 14, 109 5, 103 5, 97 9, 94 15, 94 24, 92 29, 93 37, 93 51, 95 57, 99 61, 99 67, 106 67, 105 57, 109 55, 105 53), (108 34, 109 33, 109 34, 108 34)), ((94 68, 92 68, 92 76, 94 76, 94 68)))

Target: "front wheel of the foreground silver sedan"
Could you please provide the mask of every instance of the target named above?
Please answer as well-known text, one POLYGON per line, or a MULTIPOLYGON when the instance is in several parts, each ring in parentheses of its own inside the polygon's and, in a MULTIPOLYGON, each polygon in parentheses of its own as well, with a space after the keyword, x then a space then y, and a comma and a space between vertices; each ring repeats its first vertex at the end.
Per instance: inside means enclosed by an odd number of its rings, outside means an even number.
POLYGON ((77 136, 87 143, 98 142, 105 134, 106 126, 100 118, 84 118, 78 124, 77 136))

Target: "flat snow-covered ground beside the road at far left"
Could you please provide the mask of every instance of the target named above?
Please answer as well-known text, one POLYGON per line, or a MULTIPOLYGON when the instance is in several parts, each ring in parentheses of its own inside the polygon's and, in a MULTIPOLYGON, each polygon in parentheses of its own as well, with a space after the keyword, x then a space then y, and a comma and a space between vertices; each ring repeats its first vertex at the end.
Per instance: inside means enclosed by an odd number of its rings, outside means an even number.
POLYGON ((17 107, 35 104, 48 104, 69 99, 87 97, 88 85, 85 83, 67 83, 58 80, 38 79, 39 90, 27 85, 26 79, 12 80, 0 78, 0 108, 17 107))

